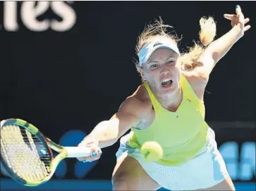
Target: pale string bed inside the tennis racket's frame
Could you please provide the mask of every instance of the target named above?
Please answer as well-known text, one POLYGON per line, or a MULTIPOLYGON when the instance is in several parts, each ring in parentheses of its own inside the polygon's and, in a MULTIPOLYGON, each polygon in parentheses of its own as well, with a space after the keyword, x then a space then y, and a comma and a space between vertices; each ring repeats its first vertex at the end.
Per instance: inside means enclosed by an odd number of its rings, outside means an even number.
POLYGON ((50 173, 51 154, 37 136, 19 126, 1 129, 1 156, 23 180, 37 182, 50 173))

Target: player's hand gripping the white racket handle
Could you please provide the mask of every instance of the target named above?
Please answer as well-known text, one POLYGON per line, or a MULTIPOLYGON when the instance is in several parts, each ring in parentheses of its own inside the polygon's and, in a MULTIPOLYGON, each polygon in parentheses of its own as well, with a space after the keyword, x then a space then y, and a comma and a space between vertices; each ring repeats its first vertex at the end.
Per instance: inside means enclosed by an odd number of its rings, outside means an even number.
POLYGON ((91 149, 90 157, 78 158, 81 162, 93 162, 99 159, 102 154, 102 150, 99 148, 99 142, 92 136, 86 136, 83 141, 79 143, 78 147, 90 147, 91 149))

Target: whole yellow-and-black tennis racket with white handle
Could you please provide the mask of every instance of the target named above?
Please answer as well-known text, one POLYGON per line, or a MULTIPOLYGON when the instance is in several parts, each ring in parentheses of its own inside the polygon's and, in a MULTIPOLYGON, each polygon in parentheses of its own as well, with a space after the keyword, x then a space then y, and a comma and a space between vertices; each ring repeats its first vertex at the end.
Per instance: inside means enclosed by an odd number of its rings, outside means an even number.
POLYGON ((1 125, 1 168, 13 180, 37 186, 50 180, 65 158, 96 157, 89 147, 63 147, 45 137, 35 126, 22 119, 7 119, 1 125), (53 157, 53 151, 58 152, 53 157))

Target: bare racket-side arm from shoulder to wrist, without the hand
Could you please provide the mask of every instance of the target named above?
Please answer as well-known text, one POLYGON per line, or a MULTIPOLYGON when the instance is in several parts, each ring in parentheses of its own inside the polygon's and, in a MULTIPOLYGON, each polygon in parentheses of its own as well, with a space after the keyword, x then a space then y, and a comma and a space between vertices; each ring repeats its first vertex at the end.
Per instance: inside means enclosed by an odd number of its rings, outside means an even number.
POLYGON ((145 105, 140 100, 133 97, 128 98, 111 119, 97 124, 89 136, 98 140, 101 148, 114 145, 130 127, 138 124, 141 118, 140 113, 143 110, 145 110, 145 105))

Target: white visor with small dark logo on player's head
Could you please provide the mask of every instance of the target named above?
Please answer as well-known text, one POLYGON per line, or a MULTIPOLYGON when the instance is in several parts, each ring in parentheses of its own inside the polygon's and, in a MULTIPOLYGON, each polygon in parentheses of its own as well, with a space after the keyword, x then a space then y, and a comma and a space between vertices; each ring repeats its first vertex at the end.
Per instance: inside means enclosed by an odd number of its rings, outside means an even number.
POLYGON ((157 39, 155 41, 150 42, 150 44, 145 44, 139 53, 139 62, 140 67, 142 67, 142 63, 147 62, 150 58, 150 55, 154 53, 158 48, 169 48, 171 51, 174 51, 178 55, 181 55, 180 51, 178 51, 177 45, 169 40, 169 39, 157 39))

